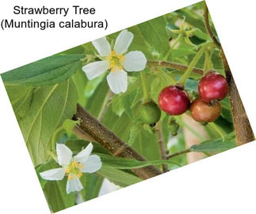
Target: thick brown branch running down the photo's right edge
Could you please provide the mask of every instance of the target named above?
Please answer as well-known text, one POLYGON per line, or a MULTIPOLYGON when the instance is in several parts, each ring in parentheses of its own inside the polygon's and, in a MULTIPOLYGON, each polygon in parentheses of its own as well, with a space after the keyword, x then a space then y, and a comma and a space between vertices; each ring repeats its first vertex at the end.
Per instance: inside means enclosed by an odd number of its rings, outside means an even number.
POLYGON ((250 141, 254 141, 254 133, 251 129, 249 119, 246 115, 246 111, 243 107, 242 100, 239 96, 239 92, 236 88, 234 78, 231 73, 231 69, 228 66, 227 58, 224 54, 224 50, 221 47, 220 42, 216 39, 212 32, 211 25, 208 20, 208 8, 204 2, 204 23, 207 28, 208 35, 212 38, 216 46, 220 48, 221 58, 224 64, 224 70, 227 78, 227 83, 229 86, 229 100, 231 102, 231 112, 235 128, 236 144, 243 145, 250 141))

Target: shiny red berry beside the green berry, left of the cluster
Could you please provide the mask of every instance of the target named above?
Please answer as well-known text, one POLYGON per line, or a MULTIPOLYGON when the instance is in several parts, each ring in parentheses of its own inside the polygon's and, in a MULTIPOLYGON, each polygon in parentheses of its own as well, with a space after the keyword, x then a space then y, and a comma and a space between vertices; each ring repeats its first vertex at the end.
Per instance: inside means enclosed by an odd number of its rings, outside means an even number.
POLYGON ((159 107, 169 115, 181 115, 189 104, 189 95, 183 88, 170 85, 159 94, 159 107))

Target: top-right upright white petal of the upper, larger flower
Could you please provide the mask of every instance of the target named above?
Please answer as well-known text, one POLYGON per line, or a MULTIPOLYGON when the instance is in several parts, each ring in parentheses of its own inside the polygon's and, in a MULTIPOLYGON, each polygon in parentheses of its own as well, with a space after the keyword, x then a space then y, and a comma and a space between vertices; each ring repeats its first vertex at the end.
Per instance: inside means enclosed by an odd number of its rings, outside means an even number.
POLYGON ((116 51, 117 54, 123 54, 128 50, 128 47, 132 43, 132 39, 132 32, 128 32, 128 30, 121 31, 117 36, 114 51, 116 51))

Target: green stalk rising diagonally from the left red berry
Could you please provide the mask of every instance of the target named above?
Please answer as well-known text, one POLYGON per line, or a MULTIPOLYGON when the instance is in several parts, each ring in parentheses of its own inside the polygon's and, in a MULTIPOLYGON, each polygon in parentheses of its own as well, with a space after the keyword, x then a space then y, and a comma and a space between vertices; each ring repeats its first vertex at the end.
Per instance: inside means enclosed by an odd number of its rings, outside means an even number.
POLYGON ((184 85, 187 78, 190 76, 190 73, 193 70, 193 67, 196 66, 198 60, 201 58, 201 55, 204 54, 204 51, 210 47, 212 43, 204 43, 204 45, 201 47, 201 49, 197 52, 197 54, 194 56, 192 61, 189 64, 189 67, 185 70, 185 73, 182 75, 180 84, 184 85))

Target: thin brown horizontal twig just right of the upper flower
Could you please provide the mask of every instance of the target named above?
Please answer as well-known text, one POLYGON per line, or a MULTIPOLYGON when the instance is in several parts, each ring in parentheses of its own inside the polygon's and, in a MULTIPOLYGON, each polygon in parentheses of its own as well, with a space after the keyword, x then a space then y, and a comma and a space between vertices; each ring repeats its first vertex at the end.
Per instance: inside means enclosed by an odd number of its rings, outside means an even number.
MULTIPOLYGON (((177 69, 178 71, 185 71, 188 68, 188 66, 180 63, 166 62, 166 61, 159 61, 159 60, 148 60, 147 66, 148 67, 165 67, 170 69, 177 69)), ((198 73, 201 75, 204 73, 204 70, 198 69, 198 68, 193 68, 192 71, 193 73, 198 73)))

